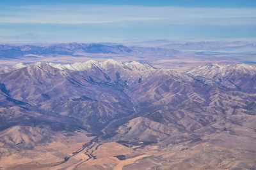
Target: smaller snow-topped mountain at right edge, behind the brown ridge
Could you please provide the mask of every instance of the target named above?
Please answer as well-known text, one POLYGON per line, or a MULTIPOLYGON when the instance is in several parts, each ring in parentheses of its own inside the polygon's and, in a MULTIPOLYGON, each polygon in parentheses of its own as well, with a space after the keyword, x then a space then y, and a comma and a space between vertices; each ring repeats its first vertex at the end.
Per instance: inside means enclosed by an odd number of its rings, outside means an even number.
POLYGON ((228 89, 256 92, 256 67, 246 64, 198 66, 186 72, 207 84, 218 83, 228 89))

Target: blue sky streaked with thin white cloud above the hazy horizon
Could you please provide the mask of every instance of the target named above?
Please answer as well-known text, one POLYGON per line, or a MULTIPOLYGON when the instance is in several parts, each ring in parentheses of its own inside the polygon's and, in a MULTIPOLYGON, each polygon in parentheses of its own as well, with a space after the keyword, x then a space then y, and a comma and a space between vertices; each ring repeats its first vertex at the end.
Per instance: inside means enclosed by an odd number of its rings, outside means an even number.
POLYGON ((255 0, 0 1, 0 43, 256 39, 255 0))

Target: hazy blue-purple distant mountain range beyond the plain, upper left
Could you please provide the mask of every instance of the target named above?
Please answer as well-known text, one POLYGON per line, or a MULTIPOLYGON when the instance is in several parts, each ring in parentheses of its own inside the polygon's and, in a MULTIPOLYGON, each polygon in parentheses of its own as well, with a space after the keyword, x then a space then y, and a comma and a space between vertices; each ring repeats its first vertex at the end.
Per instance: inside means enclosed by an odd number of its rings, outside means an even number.
POLYGON ((124 46, 114 43, 61 43, 54 45, 0 45, 0 59, 22 59, 29 56, 52 56, 52 55, 71 55, 80 56, 85 53, 102 53, 112 55, 172 55, 178 53, 178 50, 156 48, 156 47, 138 47, 124 46))

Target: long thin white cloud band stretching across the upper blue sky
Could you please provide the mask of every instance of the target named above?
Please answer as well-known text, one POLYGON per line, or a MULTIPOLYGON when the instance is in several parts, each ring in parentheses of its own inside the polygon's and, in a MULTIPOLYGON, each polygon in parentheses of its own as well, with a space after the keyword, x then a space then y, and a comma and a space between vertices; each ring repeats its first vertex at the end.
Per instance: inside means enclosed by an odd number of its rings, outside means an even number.
POLYGON ((255 8, 181 8, 170 6, 42 5, 2 6, 1 23, 108 24, 152 22, 161 24, 255 24, 255 8))

